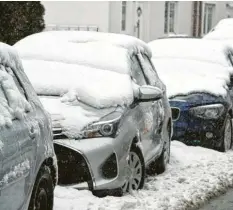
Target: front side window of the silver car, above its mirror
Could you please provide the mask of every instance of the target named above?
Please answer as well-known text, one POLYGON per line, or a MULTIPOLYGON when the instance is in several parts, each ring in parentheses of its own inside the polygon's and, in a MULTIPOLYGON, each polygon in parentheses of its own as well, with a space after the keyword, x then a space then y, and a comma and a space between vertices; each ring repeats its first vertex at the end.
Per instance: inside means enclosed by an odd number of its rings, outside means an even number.
POLYGON ((136 56, 132 57, 131 76, 136 84, 140 86, 147 84, 143 70, 136 56))

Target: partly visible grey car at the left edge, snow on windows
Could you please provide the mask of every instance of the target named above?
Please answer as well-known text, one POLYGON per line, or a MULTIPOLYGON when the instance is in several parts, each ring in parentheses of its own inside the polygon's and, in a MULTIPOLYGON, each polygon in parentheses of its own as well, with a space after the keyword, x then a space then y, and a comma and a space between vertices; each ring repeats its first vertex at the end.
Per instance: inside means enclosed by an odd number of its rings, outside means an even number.
POLYGON ((0 43, 0 209, 53 209, 52 124, 13 47, 0 43))

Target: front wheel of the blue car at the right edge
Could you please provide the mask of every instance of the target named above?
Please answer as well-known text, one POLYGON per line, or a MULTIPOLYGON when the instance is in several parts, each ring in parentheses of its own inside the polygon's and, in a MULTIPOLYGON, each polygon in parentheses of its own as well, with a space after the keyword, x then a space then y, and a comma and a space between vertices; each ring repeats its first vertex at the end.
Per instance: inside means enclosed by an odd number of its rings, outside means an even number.
POLYGON ((232 147, 232 121, 231 116, 227 114, 224 130, 223 130, 223 138, 222 143, 219 148, 220 152, 227 152, 232 147))

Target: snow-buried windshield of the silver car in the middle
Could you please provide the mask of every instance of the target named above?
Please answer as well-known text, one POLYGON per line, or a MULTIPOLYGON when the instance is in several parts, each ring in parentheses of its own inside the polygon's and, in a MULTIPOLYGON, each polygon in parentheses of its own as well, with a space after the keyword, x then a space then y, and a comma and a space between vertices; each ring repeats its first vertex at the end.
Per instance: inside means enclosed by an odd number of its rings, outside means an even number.
POLYGON ((62 96, 97 108, 129 105, 133 100, 128 74, 78 64, 24 60, 25 71, 40 96, 62 96))

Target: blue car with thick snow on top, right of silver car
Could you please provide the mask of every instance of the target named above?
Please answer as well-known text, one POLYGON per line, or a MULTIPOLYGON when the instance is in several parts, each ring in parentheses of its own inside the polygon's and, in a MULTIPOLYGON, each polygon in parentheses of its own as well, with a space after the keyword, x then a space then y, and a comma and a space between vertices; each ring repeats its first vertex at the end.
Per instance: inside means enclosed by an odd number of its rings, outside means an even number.
POLYGON ((232 48, 203 39, 149 43, 153 63, 167 86, 173 139, 220 151, 232 146, 232 48))

